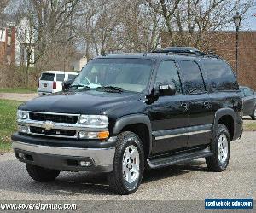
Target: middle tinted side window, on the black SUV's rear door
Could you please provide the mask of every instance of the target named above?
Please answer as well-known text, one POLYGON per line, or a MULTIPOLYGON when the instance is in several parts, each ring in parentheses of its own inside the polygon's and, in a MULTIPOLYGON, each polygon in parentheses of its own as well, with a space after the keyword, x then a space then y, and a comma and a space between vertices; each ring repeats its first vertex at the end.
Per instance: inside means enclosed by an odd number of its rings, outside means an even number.
POLYGON ((183 72, 184 87, 187 94, 206 92, 201 70, 195 61, 182 60, 180 61, 180 67, 183 72))

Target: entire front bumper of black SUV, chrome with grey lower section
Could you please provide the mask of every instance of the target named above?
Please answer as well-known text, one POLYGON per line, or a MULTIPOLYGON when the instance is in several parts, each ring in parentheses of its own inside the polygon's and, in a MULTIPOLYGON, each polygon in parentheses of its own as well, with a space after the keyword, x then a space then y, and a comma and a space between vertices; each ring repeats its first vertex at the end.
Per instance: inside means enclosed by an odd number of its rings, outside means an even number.
POLYGON ((110 172, 113 170, 114 147, 81 148, 52 147, 14 141, 12 145, 16 158, 27 164, 67 171, 110 172), (20 158, 22 153, 23 158, 20 158), (90 162, 81 166, 80 162, 90 162))

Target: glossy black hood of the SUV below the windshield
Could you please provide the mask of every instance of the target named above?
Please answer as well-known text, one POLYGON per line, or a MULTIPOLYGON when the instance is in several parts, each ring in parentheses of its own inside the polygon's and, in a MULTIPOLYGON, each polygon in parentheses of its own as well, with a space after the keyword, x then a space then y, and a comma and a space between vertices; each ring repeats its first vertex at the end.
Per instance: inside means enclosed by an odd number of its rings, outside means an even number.
POLYGON ((142 96, 143 94, 130 92, 107 93, 96 90, 61 92, 27 101, 19 109, 33 112, 98 114, 129 101, 138 101, 142 96))

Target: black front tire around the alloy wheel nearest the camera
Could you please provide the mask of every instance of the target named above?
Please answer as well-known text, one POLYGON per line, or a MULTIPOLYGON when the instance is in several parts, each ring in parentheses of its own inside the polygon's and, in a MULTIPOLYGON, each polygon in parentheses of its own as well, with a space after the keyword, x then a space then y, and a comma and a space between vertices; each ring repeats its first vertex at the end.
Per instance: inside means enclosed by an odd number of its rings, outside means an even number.
MULTIPOLYGON (((130 152, 129 148, 128 150, 130 152)), ((127 162, 128 162, 128 159, 127 159, 127 162)), ((128 165, 127 165, 127 168, 128 168, 128 165)), ((131 161, 131 168, 132 168, 132 161, 131 161)), ((130 169, 128 170, 130 171, 130 169)), ((125 131, 120 133, 117 136, 116 150, 115 150, 115 155, 113 159, 113 171, 108 174, 108 182, 110 187, 115 193, 119 193, 121 195, 134 193, 136 192, 137 188, 139 187, 143 179, 143 171, 144 171, 144 151, 143 151, 142 142, 140 141, 139 137, 130 131, 125 131), (125 173, 123 173, 123 159, 125 159, 124 154, 125 154, 126 148, 128 147, 136 147, 137 153, 139 154, 139 157, 138 157, 139 172, 135 181, 131 183, 125 180, 126 176, 125 176, 125 173)))

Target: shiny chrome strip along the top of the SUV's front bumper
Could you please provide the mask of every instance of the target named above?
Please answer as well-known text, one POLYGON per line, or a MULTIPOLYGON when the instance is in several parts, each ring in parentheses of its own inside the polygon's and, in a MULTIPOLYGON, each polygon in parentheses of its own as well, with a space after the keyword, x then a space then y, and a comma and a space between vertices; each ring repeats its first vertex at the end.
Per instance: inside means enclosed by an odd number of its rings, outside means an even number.
POLYGON ((14 141, 14 150, 23 150, 32 153, 52 154, 59 156, 92 158, 96 166, 112 166, 115 148, 75 148, 75 147, 48 147, 36 144, 14 141))

